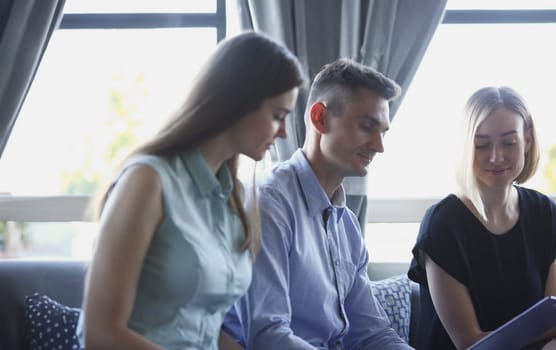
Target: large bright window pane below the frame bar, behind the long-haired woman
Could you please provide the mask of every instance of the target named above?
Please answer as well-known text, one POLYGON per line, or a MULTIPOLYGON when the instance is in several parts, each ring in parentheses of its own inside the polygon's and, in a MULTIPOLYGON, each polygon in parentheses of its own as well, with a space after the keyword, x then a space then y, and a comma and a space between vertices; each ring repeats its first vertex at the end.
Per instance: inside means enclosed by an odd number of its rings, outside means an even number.
POLYGON ((0 193, 90 194, 177 108, 214 28, 59 30, 0 159, 0 193))

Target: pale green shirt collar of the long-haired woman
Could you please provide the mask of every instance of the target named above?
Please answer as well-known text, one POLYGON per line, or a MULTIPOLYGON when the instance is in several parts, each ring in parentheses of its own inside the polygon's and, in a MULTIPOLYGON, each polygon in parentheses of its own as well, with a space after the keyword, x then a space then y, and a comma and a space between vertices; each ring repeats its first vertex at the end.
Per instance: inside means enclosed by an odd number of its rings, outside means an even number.
POLYGON ((230 196, 233 179, 226 162, 218 169, 215 176, 198 149, 183 153, 181 159, 202 196, 208 196, 213 192, 223 199, 230 196))

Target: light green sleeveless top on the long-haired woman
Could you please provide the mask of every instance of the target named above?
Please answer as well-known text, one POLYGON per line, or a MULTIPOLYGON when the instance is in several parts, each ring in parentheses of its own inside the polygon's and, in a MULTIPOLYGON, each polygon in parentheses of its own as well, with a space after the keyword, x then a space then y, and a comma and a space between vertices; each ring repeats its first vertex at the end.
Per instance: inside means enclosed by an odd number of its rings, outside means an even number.
MULTIPOLYGON (((252 261, 228 204, 233 182, 197 150, 165 159, 139 156, 160 176, 164 219, 147 251, 129 327, 165 349, 218 349, 225 313, 247 290, 252 261)), ((80 320, 81 321, 81 320, 80 320)), ((81 333, 81 322, 78 335, 81 333)))

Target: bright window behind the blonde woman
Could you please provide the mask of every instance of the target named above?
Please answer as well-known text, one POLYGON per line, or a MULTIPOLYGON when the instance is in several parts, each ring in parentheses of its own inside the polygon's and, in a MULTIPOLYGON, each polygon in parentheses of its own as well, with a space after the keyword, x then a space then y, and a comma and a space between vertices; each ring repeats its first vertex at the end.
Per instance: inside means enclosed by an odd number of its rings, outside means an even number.
POLYGON ((431 199, 454 189, 458 118, 467 98, 481 87, 508 85, 528 102, 542 155, 535 177, 525 186, 556 193, 552 96, 556 13, 546 9, 556 9, 556 1, 448 1, 444 23, 434 34, 386 136, 385 153, 369 171, 370 213, 373 203, 381 200, 399 201, 399 205, 420 200, 421 206, 412 214, 417 222, 369 223, 366 241, 371 261, 411 259, 419 215, 434 202, 431 199), (539 9, 544 11, 531 11, 539 9))

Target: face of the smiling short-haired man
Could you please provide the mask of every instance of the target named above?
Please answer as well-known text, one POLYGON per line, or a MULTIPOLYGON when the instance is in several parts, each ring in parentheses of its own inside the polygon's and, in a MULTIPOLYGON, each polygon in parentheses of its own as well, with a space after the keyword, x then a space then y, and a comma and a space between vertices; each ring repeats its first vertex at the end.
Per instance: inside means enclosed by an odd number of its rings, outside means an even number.
POLYGON ((327 131, 321 150, 335 175, 365 176, 375 154, 384 151, 384 133, 390 127, 388 101, 361 88, 345 103, 340 115, 327 111, 327 131))

